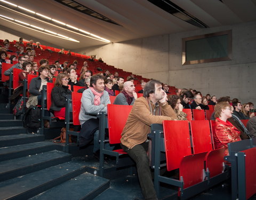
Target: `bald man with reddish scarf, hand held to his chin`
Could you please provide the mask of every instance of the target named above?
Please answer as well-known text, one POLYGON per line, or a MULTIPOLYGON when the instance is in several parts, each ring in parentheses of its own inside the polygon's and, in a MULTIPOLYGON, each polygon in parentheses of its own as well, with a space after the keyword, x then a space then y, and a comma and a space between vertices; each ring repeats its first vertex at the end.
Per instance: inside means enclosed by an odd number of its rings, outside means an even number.
POLYGON ((113 104, 116 105, 133 105, 135 99, 137 99, 137 93, 135 92, 135 86, 133 82, 126 81, 123 84, 123 91, 120 92, 113 104))

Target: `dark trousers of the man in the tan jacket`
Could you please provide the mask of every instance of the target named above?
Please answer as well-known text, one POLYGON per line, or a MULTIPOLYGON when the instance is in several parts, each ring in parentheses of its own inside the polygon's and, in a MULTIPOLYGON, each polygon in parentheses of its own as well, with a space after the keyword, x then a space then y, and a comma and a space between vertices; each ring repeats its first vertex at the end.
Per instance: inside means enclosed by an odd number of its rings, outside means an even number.
POLYGON ((121 147, 134 160, 137 166, 138 177, 140 181, 141 191, 145 199, 157 199, 156 190, 151 177, 149 167, 149 159, 147 155, 148 142, 136 145, 131 149, 121 144, 121 147))

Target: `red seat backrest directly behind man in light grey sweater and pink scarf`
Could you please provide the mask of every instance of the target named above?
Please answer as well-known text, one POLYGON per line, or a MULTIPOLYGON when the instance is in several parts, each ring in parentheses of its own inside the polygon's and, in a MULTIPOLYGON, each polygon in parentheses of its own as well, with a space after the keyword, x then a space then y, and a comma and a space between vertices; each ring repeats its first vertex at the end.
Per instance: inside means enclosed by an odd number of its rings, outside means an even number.
POLYGON ((79 113, 81 109, 82 95, 83 93, 72 92, 73 125, 81 125, 79 122, 79 113))

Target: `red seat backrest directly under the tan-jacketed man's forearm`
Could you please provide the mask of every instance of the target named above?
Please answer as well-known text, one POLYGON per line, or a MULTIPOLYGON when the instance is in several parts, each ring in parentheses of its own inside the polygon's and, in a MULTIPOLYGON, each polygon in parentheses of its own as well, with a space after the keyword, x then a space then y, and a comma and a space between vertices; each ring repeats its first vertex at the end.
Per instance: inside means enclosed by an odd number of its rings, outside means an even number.
POLYGON ((179 168, 184 156, 191 155, 188 121, 163 121, 163 129, 166 165, 171 171, 179 168))

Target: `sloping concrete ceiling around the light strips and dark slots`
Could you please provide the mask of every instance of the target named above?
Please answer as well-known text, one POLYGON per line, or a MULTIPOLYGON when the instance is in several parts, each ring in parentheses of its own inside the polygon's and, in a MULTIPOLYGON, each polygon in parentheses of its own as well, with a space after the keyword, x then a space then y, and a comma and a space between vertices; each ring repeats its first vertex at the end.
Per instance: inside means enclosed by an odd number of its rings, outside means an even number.
MULTIPOLYGON (((89 7, 121 26, 93 18, 52 0, 10 0, 9 2, 89 31, 109 39, 111 42, 199 29, 146 0, 76 0, 77 3, 89 7)), ((209 27, 256 21, 256 0, 171 0, 171 2, 209 27)), ((63 46, 65 49, 106 44, 13 12, 3 7, 6 4, 1 1, 0 5, 2 5, 0 6, 0 14, 2 15, 68 36, 76 39, 79 43, 39 33, 0 19, 0 24, 3 27, 14 29, 22 34, 42 39, 56 46, 63 46)), ((26 13, 26 11, 23 12, 26 13)))

